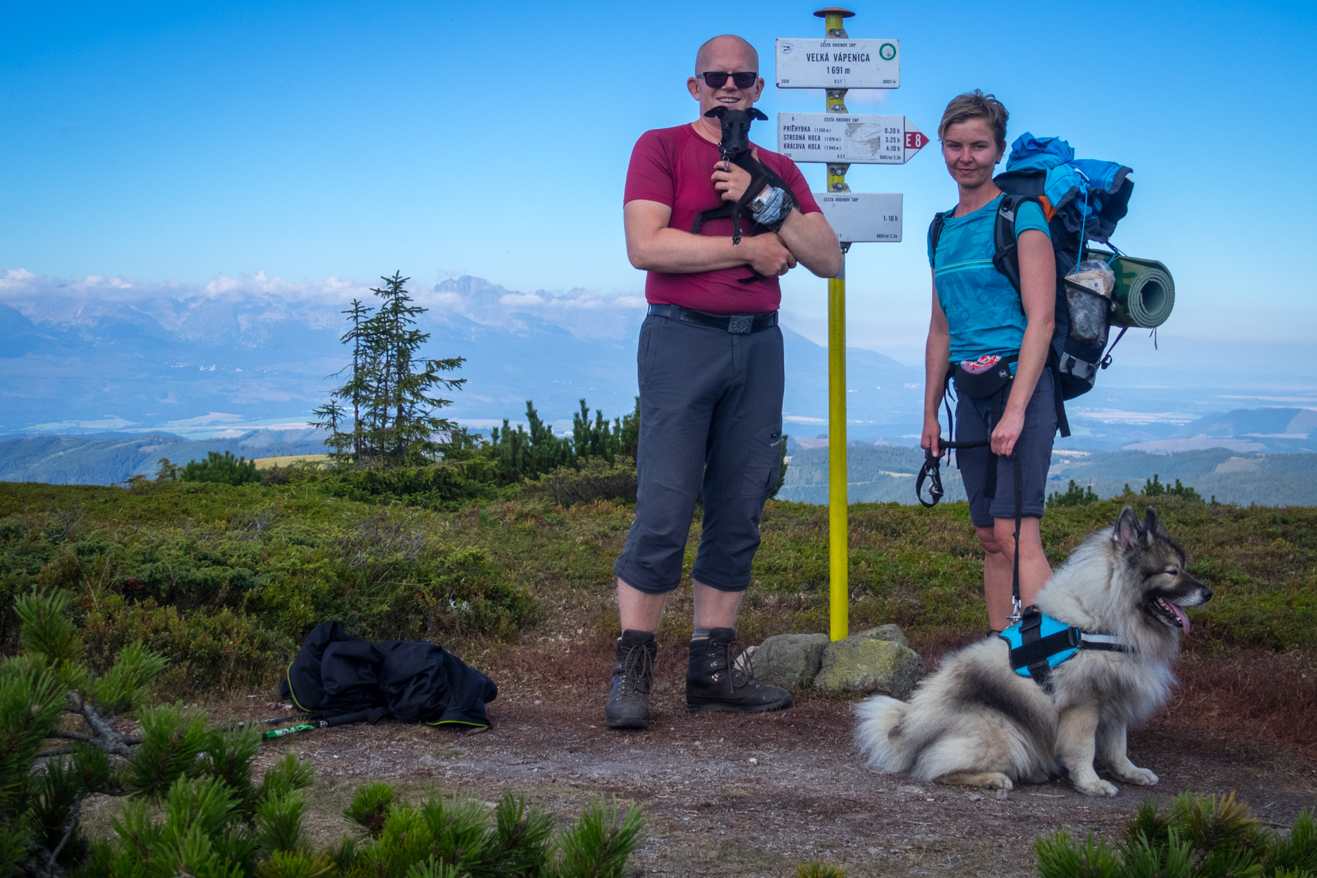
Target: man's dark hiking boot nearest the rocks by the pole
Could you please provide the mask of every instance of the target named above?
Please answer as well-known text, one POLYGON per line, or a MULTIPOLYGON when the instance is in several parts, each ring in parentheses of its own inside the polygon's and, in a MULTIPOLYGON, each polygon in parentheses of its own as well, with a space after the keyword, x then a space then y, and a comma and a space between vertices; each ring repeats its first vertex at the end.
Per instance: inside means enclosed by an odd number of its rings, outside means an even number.
POLYGON ((763 713, 790 706, 792 694, 785 688, 755 679, 753 665, 736 642, 735 629, 714 628, 707 638, 690 641, 687 713, 763 713))

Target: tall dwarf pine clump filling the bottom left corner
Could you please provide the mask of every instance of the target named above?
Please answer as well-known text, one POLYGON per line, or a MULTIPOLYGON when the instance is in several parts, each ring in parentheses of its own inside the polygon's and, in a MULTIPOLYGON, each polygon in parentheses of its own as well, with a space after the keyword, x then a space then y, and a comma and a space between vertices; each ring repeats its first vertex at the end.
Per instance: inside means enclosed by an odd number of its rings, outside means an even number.
POLYGON ((211 729, 175 706, 144 707, 165 659, 134 642, 95 670, 70 603, 65 590, 14 602, 22 652, 0 663, 0 875, 55 878, 78 867, 87 878, 220 878, 296 846, 309 767, 284 760, 253 786, 259 733, 211 729), (61 724, 66 713, 82 731, 61 724), (137 740, 115 731, 132 713, 137 740), (42 750, 51 738, 70 745, 42 750), (129 798, 116 840, 83 837, 82 804, 92 794, 129 798))

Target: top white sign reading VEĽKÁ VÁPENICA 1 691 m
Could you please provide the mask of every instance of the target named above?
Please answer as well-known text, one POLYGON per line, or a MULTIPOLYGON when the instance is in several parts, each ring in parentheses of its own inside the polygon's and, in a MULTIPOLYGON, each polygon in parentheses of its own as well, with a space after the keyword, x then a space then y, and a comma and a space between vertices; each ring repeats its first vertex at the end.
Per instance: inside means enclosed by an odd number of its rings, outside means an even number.
POLYGON ((778 88, 900 88, 900 39, 778 39, 778 88))

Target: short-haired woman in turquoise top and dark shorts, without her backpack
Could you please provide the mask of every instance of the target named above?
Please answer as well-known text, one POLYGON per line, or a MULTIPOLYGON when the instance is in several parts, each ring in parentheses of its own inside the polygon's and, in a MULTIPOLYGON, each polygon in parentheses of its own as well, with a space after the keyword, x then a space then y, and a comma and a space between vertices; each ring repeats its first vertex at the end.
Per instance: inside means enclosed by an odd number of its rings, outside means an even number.
POLYGON ((1023 483, 1021 606, 1034 603, 1034 595, 1052 575, 1039 520, 1056 434, 1052 374, 1046 369, 1055 321, 1056 263, 1042 208, 1025 201, 1015 216, 1021 290, 1017 292, 993 267, 993 226, 1002 197, 993 183, 993 168, 1006 151, 1008 117, 1001 101, 975 90, 947 104, 938 125, 942 158, 960 190, 960 201, 943 215, 936 246, 930 236, 932 320, 925 346, 921 440, 935 457, 944 453, 939 446, 938 407, 947 374, 954 371, 954 438, 990 440, 988 448, 957 450, 956 459, 969 496, 969 516, 985 553, 984 592, 993 633, 1008 625, 1011 612, 1017 550, 1013 465, 1021 467, 1023 483), (1011 378, 993 390, 993 375, 1002 365, 1009 366, 1011 378), (989 474, 992 465, 996 479, 989 474))

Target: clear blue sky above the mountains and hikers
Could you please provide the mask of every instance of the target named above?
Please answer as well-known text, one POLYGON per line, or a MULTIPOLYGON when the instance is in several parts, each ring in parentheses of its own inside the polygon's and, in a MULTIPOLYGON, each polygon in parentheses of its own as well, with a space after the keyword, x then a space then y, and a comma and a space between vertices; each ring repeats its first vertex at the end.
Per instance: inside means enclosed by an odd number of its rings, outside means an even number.
MULTIPOLYGON (((902 47, 902 87, 852 92, 853 112, 903 113, 932 134, 946 101, 980 87, 1006 103, 1011 138, 1060 134, 1134 168, 1114 240, 1175 274, 1164 336, 1181 358, 1208 342, 1279 357, 1312 341, 1317 211, 1296 183, 1317 140, 1317 4, 853 8, 851 36, 902 47)), ((822 33, 811 11, 9 3, 0 271, 195 283, 400 269, 635 292, 620 224, 635 138, 693 118, 684 83, 701 41, 743 34, 772 79, 774 37, 822 33)), ((822 103, 769 86, 760 107, 822 103)), ((772 126, 757 140, 773 146, 772 126)), ((803 170, 822 188, 822 166, 803 170)), ((849 180, 903 192, 906 216, 905 242, 852 250, 852 344, 910 362, 927 321, 923 233, 955 187, 936 143, 849 180)), ((798 270, 785 290, 820 337, 824 283, 798 270)))

